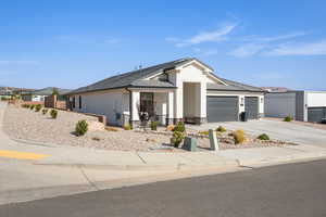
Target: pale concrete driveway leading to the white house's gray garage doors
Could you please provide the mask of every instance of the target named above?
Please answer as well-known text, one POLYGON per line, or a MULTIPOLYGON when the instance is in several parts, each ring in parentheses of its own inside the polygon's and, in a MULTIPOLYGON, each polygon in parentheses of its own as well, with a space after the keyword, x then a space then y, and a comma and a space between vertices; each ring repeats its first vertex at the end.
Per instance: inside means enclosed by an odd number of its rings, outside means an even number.
POLYGON ((310 126, 302 126, 296 123, 285 123, 280 120, 261 119, 230 123, 208 123, 201 126, 189 125, 189 128, 198 130, 215 129, 224 126, 227 129, 243 129, 244 132, 259 136, 267 133, 272 139, 294 142, 298 144, 310 144, 326 148, 326 130, 310 126))

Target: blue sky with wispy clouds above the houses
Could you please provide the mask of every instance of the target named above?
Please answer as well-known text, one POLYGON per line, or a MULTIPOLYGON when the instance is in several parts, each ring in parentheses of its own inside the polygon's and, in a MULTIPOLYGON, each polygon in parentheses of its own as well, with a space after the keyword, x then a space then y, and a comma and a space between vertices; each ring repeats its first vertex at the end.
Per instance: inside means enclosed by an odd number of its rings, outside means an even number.
POLYGON ((1 1, 0 85, 77 88, 185 56, 254 86, 326 90, 326 1, 1 1))

